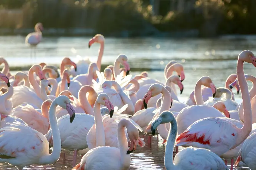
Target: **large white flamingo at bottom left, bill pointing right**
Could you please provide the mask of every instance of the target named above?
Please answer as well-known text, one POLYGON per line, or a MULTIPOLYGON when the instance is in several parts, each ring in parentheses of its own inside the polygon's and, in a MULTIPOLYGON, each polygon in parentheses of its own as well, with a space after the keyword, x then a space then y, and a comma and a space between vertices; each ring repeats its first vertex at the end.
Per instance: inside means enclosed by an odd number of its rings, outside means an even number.
POLYGON ((48 141, 42 133, 23 123, 13 122, 8 123, 10 126, 0 129, 3 131, 0 133, 0 163, 6 162, 22 170, 31 164, 53 164, 59 160, 61 142, 55 115, 57 105, 69 111, 70 123, 75 118, 74 109, 67 96, 58 96, 52 102, 49 111, 49 122, 53 131, 52 153, 49 153, 48 141))

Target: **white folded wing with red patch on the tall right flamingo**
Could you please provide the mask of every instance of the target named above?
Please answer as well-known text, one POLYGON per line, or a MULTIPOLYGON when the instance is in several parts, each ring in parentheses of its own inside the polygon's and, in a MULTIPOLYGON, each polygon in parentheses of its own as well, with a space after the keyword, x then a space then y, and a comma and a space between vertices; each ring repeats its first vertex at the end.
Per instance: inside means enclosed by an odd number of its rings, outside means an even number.
POLYGON ((178 135, 176 146, 205 148, 221 155, 235 145, 236 136, 237 128, 232 122, 221 118, 205 118, 197 120, 178 135))

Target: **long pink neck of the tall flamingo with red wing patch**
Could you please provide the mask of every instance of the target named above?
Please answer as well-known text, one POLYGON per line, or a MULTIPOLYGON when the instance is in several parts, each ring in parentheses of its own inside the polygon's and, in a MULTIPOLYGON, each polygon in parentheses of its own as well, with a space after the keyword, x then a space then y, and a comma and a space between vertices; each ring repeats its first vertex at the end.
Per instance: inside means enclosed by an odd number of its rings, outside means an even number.
POLYGON ((236 72, 243 101, 244 124, 243 127, 239 129, 239 133, 237 133, 238 136, 236 137, 236 145, 233 146, 233 148, 240 145, 240 143, 242 143, 249 136, 252 130, 252 106, 250 104, 248 84, 244 76, 243 62, 244 61, 242 61, 239 57, 237 60, 236 72))

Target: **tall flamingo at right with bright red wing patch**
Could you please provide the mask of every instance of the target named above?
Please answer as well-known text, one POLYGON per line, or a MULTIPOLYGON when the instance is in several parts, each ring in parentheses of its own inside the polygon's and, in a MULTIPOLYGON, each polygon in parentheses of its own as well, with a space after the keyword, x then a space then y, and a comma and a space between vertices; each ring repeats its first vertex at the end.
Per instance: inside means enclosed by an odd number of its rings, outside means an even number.
POLYGON ((239 129, 231 120, 222 118, 201 119, 194 122, 185 132, 178 135, 176 146, 197 146, 221 155, 240 145, 249 136, 252 130, 252 108, 248 85, 243 72, 243 63, 252 63, 256 67, 255 59, 256 57, 251 51, 245 50, 239 54, 237 61, 237 79, 240 82, 244 105, 243 127, 239 129), (204 129, 201 127, 204 127, 204 129))

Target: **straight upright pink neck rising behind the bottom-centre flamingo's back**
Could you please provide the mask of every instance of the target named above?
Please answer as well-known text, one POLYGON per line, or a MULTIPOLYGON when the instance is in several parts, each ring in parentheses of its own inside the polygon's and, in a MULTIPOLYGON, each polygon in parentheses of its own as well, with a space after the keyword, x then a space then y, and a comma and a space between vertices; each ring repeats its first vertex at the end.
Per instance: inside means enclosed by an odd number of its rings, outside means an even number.
POLYGON ((95 102, 94 105, 94 121, 96 128, 96 146, 105 146, 105 132, 104 126, 101 117, 101 104, 98 101, 95 102))

